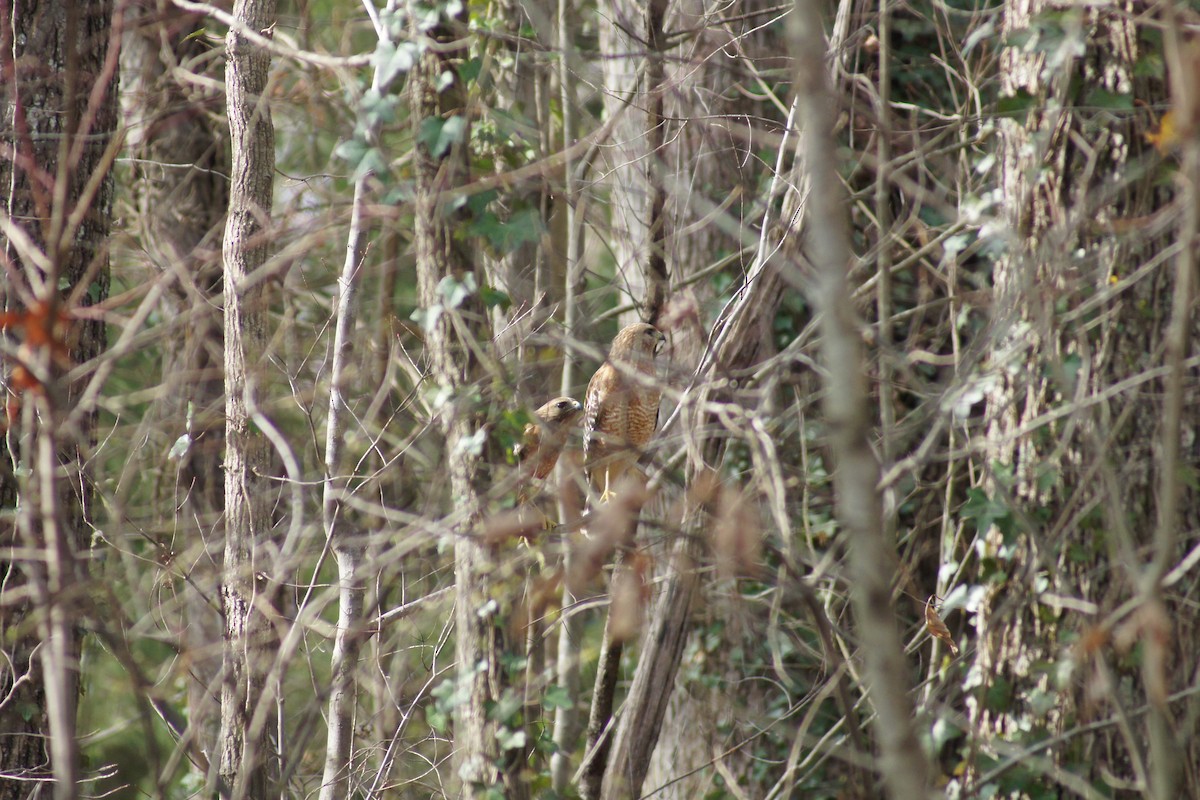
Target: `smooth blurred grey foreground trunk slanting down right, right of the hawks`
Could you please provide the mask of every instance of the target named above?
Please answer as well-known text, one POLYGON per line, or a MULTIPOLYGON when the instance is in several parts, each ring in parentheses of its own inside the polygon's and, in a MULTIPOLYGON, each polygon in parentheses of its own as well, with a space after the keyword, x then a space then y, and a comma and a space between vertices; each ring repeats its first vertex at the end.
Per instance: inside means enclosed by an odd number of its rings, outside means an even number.
POLYGON ((929 766, 913 724, 911 664, 892 606, 895 542, 886 539, 880 467, 871 452, 866 362, 847 273, 851 267, 846 194, 835 166, 834 106, 827 89, 827 48, 821 8, 797 0, 788 23, 796 64, 797 115, 804 124, 802 152, 811 190, 806 253, 816 272, 811 296, 821 315, 821 354, 827 369, 823 410, 836 464, 838 521, 850 540, 851 602, 878 742, 880 772, 895 800, 929 793, 929 766))

